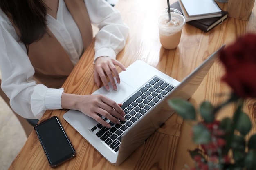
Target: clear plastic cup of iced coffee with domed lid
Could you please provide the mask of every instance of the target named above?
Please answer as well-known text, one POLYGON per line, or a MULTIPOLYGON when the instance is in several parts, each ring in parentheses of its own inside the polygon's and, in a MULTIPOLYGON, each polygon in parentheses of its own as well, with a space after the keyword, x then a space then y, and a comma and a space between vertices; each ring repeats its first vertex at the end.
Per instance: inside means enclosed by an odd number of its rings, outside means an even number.
POLYGON ((182 28, 186 24, 182 13, 177 9, 170 9, 171 18, 167 9, 159 16, 159 37, 162 47, 171 50, 175 49, 180 43, 182 28))

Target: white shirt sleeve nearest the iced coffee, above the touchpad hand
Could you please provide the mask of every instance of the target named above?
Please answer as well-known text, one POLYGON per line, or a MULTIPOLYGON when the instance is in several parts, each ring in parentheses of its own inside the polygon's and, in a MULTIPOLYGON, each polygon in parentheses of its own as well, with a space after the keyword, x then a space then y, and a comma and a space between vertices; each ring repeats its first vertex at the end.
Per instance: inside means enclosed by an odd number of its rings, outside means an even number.
POLYGON ((128 26, 106 0, 85 0, 85 4, 92 24, 99 28, 95 35, 94 61, 102 56, 116 58, 126 43, 128 26))

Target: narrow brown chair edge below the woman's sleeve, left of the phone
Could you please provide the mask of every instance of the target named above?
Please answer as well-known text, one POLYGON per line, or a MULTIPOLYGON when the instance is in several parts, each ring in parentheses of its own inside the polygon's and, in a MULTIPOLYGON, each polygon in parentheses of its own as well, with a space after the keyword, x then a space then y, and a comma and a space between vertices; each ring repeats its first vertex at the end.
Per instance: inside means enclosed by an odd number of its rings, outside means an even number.
MULTIPOLYGON (((1 82, 2 82, 2 80, 0 79, 0 84, 1 84, 1 82)), ((2 91, 2 88, 0 88, 0 96, 4 99, 6 104, 11 108, 10 99, 2 91)), ((12 108, 11 108, 11 110, 12 110, 12 108)), ((34 129, 34 125, 37 124, 38 120, 37 119, 25 119, 25 118, 21 117, 20 115, 18 115, 17 113, 15 113, 14 111, 13 111, 13 113, 16 115, 16 117, 20 121, 20 124, 22 125, 27 137, 29 137, 30 133, 34 129)))

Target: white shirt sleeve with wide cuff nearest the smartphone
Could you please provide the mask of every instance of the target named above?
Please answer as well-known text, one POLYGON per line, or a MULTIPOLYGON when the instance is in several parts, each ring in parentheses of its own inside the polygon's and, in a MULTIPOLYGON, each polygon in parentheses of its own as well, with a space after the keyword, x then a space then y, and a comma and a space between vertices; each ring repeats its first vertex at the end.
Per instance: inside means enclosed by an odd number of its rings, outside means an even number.
POLYGON ((47 109, 60 109, 63 89, 36 85, 25 45, 18 42, 18 35, 1 10, 0 37, 1 88, 13 110, 22 117, 40 119, 47 109))

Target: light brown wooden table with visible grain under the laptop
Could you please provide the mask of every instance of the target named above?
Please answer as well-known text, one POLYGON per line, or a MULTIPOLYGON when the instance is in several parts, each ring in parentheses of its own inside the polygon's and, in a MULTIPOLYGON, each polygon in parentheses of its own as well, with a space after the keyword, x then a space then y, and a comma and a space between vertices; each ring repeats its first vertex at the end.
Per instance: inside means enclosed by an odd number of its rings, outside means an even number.
MULTIPOLYGON (((176 0, 170 0, 170 4, 176 0)), ((227 3, 218 3, 226 9, 227 3)), ((159 42, 157 17, 167 7, 166 0, 119 0, 115 5, 130 27, 127 44, 117 59, 126 67, 135 60, 154 66, 160 71, 182 81, 194 68, 201 64, 211 53, 222 44, 230 44, 246 32, 256 33, 256 8, 252 11, 248 21, 228 18, 221 25, 216 26, 208 33, 186 24, 182 31, 179 46, 175 50, 165 50, 159 42)), ((93 79, 94 42, 85 51, 67 81, 63 85, 66 93, 91 94, 97 90, 93 79)), ((118 71, 121 71, 120 69, 118 71)), ((209 74, 204 79, 198 91, 190 101, 199 105, 203 100, 218 104, 224 100, 216 93, 226 93, 229 88, 220 82, 223 67, 215 62, 209 74)), ((253 102, 249 101, 248 106, 253 102)), ((252 107, 248 107, 250 111, 252 107)), ((74 159, 63 163, 56 169, 61 170, 182 170, 185 164, 193 166, 187 152, 193 149, 191 142, 191 126, 176 114, 171 116, 165 124, 145 141, 124 163, 116 167, 104 159, 72 126, 64 119, 67 110, 47 110, 42 119, 57 115, 67 135, 70 137, 77 155, 74 159)), ((164 111, 164 110, 163 110, 164 111)), ((219 117, 232 113, 220 114, 219 117)), ((251 113, 251 112, 250 112, 251 113)), ((252 115, 251 115, 252 117, 252 115)), ((254 119, 254 117, 252 117, 254 119)), ((42 120, 41 119, 41 120, 42 120)), ((255 123, 255 122, 254 122, 255 123)), ((254 126, 254 132, 256 127, 254 126)), ((31 133, 25 145, 9 167, 9 170, 50 170, 43 149, 35 131, 31 133)))

